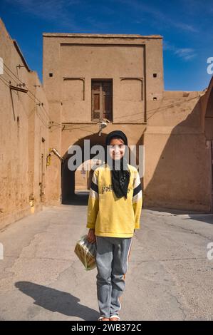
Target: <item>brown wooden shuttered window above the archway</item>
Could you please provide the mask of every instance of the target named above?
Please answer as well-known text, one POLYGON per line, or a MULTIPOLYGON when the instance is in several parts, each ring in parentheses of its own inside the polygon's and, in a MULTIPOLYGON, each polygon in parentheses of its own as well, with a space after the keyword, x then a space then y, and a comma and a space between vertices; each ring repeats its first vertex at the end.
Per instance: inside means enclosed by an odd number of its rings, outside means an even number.
POLYGON ((113 81, 92 80, 92 121, 113 120, 113 81))

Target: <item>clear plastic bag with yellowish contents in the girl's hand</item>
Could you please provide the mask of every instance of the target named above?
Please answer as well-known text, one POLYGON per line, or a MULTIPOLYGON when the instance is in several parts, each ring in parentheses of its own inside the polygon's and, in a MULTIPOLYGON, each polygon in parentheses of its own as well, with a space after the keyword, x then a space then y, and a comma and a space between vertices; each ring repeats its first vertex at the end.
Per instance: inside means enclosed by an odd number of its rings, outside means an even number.
POLYGON ((87 235, 78 239, 74 252, 83 263, 86 270, 92 270, 96 267, 96 242, 88 242, 87 235))

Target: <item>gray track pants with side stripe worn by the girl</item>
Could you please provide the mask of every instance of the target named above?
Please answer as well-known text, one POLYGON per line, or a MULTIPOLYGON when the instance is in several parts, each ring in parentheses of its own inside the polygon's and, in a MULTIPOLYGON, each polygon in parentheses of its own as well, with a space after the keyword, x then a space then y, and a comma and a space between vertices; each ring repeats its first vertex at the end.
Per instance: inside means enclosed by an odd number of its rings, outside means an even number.
POLYGON ((96 242, 98 306, 100 316, 109 318, 118 315, 121 308, 119 297, 125 288, 132 237, 96 236, 96 242))

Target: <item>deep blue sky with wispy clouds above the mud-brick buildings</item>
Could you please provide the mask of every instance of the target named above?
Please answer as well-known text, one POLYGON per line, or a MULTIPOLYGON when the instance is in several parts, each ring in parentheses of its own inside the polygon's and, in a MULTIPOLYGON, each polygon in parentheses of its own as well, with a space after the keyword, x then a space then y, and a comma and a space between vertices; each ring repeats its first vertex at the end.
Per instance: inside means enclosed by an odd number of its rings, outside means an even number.
POLYGON ((42 81, 42 33, 163 36, 166 91, 202 91, 213 57, 213 0, 0 0, 0 16, 42 81))

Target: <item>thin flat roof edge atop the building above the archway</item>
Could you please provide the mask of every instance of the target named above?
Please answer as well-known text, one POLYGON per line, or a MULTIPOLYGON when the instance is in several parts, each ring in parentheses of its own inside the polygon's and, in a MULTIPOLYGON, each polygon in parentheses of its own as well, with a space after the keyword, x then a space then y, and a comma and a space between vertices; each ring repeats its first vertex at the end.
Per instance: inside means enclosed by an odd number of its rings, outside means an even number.
POLYGON ((161 35, 137 35, 123 33, 43 33, 48 37, 100 37, 100 38, 162 38, 161 35))

